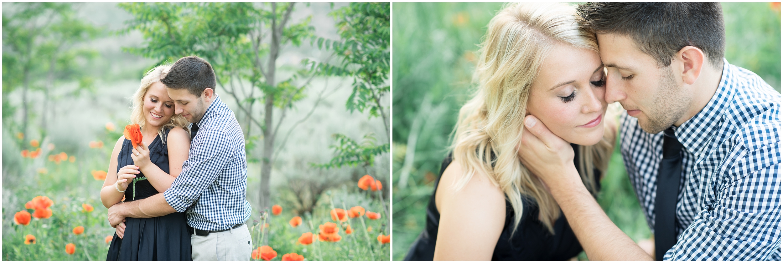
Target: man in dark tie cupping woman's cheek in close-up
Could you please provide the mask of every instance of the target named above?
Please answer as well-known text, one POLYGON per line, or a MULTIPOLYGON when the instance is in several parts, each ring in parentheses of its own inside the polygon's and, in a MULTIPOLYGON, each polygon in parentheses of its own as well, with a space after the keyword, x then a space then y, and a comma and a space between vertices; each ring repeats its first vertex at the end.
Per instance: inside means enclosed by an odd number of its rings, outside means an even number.
MULTIPOLYGON (((779 261, 781 95, 723 58, 720 4, 587 3, 578 13, 597 34, 607 103, 627 110, 621 152, 655 259, 779 261)), ((536 117, 525 126, 520 155, 587 256, 650 260, 584 189, 568 143, 536 117)))

